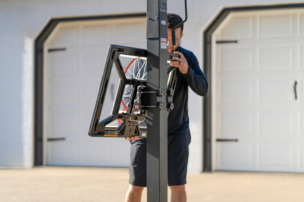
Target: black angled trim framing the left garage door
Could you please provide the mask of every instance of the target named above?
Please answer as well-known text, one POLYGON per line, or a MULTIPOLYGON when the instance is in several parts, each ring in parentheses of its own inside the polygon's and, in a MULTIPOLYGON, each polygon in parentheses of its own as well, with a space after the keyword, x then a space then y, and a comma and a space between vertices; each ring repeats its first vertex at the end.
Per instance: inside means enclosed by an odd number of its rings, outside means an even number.
POLYGON ((145 17, 146 13, 53 18, 35 39, 34 46, 34 166, 43 165, 43 44, 60 22, 145 17))

